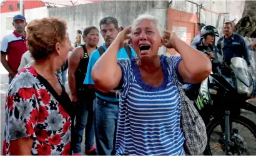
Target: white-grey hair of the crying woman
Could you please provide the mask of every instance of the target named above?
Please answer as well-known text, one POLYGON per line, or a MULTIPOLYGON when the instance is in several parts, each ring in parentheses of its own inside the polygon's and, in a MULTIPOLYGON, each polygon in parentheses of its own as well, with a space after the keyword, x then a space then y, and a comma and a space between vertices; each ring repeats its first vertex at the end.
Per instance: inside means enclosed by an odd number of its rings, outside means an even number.
POLYGON ((150 21, 154 22, 155 26, 157 26, 157 30, 159 31, 160 37, 164 36, 164 29, 160 24, 159 19, 157 19, 157 17, 152 16, 150 14, 140 14, 139 17, 137 17, 137 19, 134 20, 132 24, 132 34, 134 33, 135 24, 137 24, 137 22, 142 21, 144 19, 149 19, 150 21))

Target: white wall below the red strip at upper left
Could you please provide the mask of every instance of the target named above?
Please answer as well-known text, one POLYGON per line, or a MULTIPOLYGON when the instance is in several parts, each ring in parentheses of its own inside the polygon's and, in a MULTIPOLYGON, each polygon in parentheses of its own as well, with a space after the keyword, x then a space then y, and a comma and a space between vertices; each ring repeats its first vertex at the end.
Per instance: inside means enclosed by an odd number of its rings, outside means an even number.
MULTIPOLYGON (((20 14, 19 11, 15 12, 6 12, 0 14, 1 19, 1 34, 0 34, 0 41, 2 40, 2 37, 6 36, 7 34, 10 34, 14 31, 14 27, 11 27, 11 29, 7 29, 6 25, 6 18, 15 16, 16 14, 20 14)), ((48 17, 47 7, 38 7, 34 9, 26 9, 25 10, 25 17, 27 23, 31 22, 33 19, 40 19, 43 17, 48 17)), ((12 21, 9 21, 8 24, 12 24, 12 21)))

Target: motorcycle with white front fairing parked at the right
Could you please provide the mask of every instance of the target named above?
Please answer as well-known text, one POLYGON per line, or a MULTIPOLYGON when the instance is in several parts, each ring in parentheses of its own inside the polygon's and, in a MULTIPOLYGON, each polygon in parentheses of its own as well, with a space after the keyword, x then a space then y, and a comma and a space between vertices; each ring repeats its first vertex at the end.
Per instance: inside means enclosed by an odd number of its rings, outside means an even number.
POLYGON ((221 74, 210 74, 193 97, 185 90, 207 128, 204 155, 256 155, 256 125, 241 115, 241 109, 256 114, 256 106, 246 102, 254 94, 253 79, 244 59, 234 57, 229 65, 223 61, 223 47, 221 42, 222 54, 217 54, 221 74), (235 127, 237 124, 244 125, 252 135, 244 134, 244 129, 235 127))

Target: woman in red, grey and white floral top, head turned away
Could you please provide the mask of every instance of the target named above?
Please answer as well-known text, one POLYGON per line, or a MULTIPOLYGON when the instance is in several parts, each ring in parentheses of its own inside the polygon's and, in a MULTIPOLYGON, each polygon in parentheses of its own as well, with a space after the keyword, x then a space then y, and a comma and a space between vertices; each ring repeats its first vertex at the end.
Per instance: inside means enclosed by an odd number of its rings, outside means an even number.
POLYGON ((70 155, 72 103, 56 74, 66 61, 66 22, 36 19, 27 26, 34 62, 12 80, 6 95, 3 155, 70 155))

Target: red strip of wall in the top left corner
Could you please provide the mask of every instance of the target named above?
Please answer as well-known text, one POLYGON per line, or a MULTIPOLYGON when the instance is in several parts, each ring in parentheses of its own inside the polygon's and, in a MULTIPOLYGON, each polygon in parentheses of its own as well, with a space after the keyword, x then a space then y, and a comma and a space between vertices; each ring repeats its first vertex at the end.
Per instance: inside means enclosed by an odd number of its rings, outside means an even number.
MULTIPOLYGON (((13 11, 19 11, 19 8, 17 8, 17 3, 19 1, 5 1, 4 4, 1 6, 1 13, 4 12, 13 12, 13 11), (13 10, 9 10, 9 5, 13 5, 13 10)), ((43 7, 45 6, 44 2, 39 1, 39 0, 34 0, 34 1, 24 1, 24 9, 32 9, 36 7, 43 7)))

